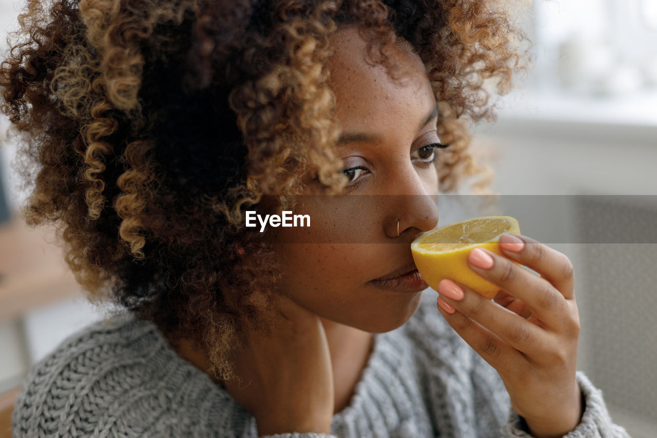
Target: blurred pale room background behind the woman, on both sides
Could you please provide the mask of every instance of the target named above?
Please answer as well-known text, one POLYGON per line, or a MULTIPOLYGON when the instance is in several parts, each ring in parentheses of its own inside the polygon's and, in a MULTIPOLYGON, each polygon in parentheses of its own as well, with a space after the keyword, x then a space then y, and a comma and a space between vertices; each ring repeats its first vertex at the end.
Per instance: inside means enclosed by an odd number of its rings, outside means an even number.
MULTIPOLYGON (((20 5, 0 0, 3 30, 15 28, 20 5)), ((547 212, 503 213, 526 235, 560 236, 543 242, 576 269, 578 369, 603 391, 614 422, 654 438, 657 0, 535 0, 518 20, 533 68, 499 100, 497 122, 473 127, 474 151, 495 170, 502 203, 550 197, 547 212)), ((11 143, 0 149, 0 430, 30 366, 101 314, 48 243, 51 232, 22 224, 13 156, 11 143)), ((457 219, 440 212, 440 224, 457 219)))

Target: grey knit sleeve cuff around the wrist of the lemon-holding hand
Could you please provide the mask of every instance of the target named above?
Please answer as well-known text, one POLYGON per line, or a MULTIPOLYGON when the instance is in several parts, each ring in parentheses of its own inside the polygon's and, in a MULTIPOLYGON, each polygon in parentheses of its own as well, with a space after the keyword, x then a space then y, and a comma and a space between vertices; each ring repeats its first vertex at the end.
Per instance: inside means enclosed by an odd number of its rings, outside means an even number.
MULTIPOLYGON (((612 422, 602 399, 602 391, 593 386, 583 372, 578 371, 576 378, 584 397, 585 408, 581 422, 563 438, 631 438, 625 428, 612 422)), ((507 437, 532 437, 524 418, 513 408, 510 408, 504 432, 507 437)))

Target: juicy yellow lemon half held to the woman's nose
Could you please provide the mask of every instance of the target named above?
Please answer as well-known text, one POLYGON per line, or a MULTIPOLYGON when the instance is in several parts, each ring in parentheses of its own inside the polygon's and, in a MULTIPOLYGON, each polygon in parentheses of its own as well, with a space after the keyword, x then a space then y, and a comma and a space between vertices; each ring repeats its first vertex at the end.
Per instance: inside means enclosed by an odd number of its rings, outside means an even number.
POLYGON ((504 233, 520 234, 518 221, 511 216, 461 220, 423 233, 411 243, 411 252, 420 276, 432 289, 438 291, 440 280, 449 278, 491 299, 500 287, 470 269, 468 253, 484 248, 502 255, 499 237, 504 233))

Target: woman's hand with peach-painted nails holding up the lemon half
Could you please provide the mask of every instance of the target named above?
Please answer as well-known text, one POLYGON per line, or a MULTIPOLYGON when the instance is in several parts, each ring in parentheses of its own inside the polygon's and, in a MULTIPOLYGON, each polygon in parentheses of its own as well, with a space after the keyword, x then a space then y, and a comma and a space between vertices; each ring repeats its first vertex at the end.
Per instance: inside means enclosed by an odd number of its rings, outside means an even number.
POLYGON ((561 437, 579 424, 583 413, 575 378, 579 313, 573 267, 562 253, 529 237, 516 237, 524 242, 512 243, 507 235, 500 239, 507 258, 483 249, 468 255, 474 272, 503 289, 494 301, 442 280, 438 308, 449 325, 497 370, 512 407, 526 420, 532 435, 561 437), (492 260, 486 260, 486 255, 492 260), (445 303, 449 311, 442 308, 445 303))

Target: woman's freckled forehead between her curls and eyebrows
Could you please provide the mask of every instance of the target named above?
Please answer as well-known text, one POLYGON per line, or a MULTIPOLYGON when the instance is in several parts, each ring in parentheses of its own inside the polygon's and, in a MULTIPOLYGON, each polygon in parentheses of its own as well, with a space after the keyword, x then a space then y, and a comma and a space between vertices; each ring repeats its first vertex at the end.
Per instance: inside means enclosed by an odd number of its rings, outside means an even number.
POLYGON ((332 55, 328 84, 336 97, 336 116, 345 130, 363 122, 376 124, 376 120, 387 124, 390 119, 417 126, 416 114, 424 115, 435 105, 424 64, 409 43, 384 49, 399 67, 399 80, 393 80, 384 66, 372 66, 365 61, 367 43, 356 28, 338 30, 330 36, 329 43, 332 55))

